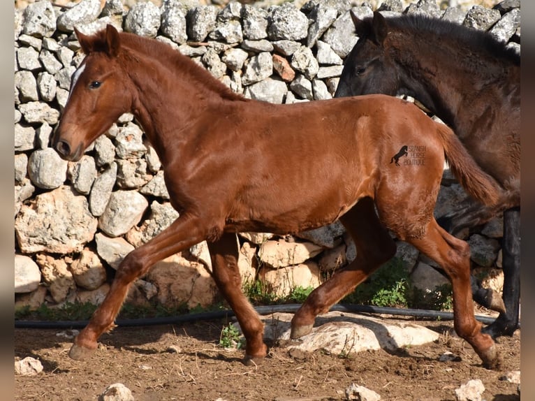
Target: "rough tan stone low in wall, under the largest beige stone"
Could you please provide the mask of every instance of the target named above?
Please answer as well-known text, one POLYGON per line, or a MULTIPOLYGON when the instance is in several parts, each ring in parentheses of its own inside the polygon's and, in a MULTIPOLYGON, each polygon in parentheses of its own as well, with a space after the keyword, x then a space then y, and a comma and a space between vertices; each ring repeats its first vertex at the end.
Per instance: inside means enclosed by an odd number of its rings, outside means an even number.
POLYGON ((41 268, 43 282, 56 303, 64 302, 69 293, 76 290, 71 271, 64 259, 56 259, 47 254, 37 254, 36 262, 41 268))

